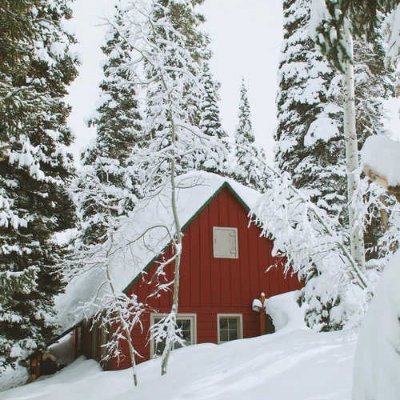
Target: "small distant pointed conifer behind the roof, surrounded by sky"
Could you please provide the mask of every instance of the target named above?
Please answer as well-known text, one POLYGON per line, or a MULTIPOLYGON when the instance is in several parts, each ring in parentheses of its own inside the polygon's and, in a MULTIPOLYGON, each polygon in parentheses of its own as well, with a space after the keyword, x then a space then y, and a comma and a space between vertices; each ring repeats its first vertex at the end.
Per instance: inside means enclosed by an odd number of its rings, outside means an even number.
POLYGON ((251 110, 244 79, 240 87, 239 123, 235 131, 233 177, 261 192, 268 186, 269 173, 263 149, 257 145, 251 121, 251 110))

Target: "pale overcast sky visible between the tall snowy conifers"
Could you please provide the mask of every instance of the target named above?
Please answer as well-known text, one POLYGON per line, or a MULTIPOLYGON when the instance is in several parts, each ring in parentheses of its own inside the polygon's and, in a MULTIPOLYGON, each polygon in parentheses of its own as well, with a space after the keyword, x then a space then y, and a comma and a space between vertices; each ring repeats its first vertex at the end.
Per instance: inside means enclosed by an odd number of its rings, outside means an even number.
MULTIPOLYGON (((104 19, 111 16, 116 0, 75 0, 72 29, 79 45, 80 75, 71 87, 70 124, 76 136, 73 151, 95 135, 87 127, 98 104, 104 43, 104 19)), ((221 82, 221 113, 225 129, 233 134, 242 77, 249 86, 257 140, 272 155, 276 121, 277 69, 282 41, 281 0, 206 0, 205 30, 212 39, 212 70, 221 82)))

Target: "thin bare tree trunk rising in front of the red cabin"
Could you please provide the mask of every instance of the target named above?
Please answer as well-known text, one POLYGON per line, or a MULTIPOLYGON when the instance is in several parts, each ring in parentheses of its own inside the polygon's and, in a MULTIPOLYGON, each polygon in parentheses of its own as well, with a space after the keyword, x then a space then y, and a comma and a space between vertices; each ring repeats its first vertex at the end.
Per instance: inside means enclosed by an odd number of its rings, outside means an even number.
MULTIPOLYGON (((172 112, 171 112, 172 114, 172 112)), ((171 115, 171 141, 172 145, 175 146, 176 143, 176 126, 174 122, 174 118, 171 115)), ((173 324, 176 325, 176 318, 178 315, 178 306, 179 306, 179 274, 180 274, 180 264, 181 264, 181 254, 182 254, 182 228, 179 221, 179 215, 176 204, 176 182, 175 182, 175 174, 176 174, 176 160, 175 154, 173 154, 171 159, 171 207, 172 213, 174 216, 174 224, 176 231, 176 239, 174 241, 174 248, 176 253, 175 259, 175 268, 174 268, 174 294, 172 300, 172 309, 171 314, 173 316, 173 324)), ((165 375, 167 373, 169 356, 172 350, 172 343, 168 340, 166 342, 165 351, 163 352, 163 358, 161 362, 161 375, 165 375)))

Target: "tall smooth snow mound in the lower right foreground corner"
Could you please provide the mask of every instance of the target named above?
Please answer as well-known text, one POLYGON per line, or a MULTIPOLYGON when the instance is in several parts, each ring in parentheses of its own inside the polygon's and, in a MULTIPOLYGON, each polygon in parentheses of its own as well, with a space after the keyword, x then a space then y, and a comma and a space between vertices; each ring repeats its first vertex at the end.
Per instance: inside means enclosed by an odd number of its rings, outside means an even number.
POLYGON ((400 252, 386 267, 364 320, 355 359, 353 400, 399 398, 400 252))

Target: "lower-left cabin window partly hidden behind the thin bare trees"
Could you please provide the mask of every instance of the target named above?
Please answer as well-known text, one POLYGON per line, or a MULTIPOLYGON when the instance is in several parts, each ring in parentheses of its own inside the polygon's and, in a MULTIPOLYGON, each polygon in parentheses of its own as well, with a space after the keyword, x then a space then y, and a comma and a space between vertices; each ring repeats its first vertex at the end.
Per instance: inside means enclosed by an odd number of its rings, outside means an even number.
MULTIPOLYGON (((151 315, 151 325, 156 324, 162 318, 164 318, 166 314, 152 314, 151 315)), ((178 318, 176 320, 179 329, 181 330, 181 337, 185 341, 186 346, 190 346, 191 344, 195 344, 197 341, 196 337, 196 314, 178 314, 178 318)), ((150 343, 150 355, 160 356, 164 351, 165 342, 155 344, 154 340, 150 343)), ((174 345, 174 349, 182 347, 180 344, 176 343, 174 345)))

